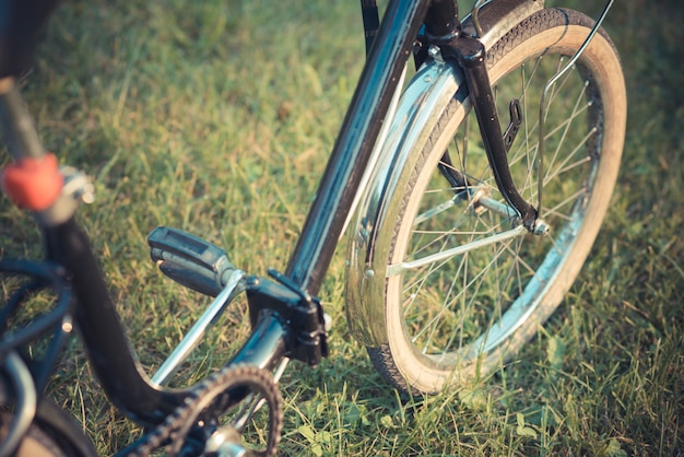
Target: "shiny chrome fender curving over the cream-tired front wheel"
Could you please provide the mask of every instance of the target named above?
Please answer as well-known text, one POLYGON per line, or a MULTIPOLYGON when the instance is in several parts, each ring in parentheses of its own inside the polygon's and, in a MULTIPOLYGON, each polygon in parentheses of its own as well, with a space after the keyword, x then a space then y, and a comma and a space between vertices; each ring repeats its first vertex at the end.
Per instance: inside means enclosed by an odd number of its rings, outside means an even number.
MULTIPOLYGON (((542 9, 542 0, 494 0, 483 5, 477 17, 485 49, 542 9)), ((471 17, 463 21, 463 28, 474 33, 471 17)), ((381 223, 396 223, 397 210, 387 202, 406 186, 399 171, 415 166, 418 154, 413 152, 425 147, 451 103, 456 104, 452 121, 460 122, 470 109, 468 95, 457 66, 439 60, 423 66, 401 96, 387 137, 369 162, 374 165, 350 225, 345 291, 350 333, 366 347, 387 342, 384 295, 391 239, 377 235, 381 223)))

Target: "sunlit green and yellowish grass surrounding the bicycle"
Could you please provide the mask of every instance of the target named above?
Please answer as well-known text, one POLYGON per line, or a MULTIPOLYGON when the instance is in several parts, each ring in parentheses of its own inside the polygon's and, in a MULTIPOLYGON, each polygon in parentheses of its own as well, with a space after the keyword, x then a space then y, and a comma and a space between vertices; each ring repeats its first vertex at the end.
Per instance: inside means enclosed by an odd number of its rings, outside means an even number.
MULTIPOLYGON (((95 178, 81 219, 148 367, 200 309, 149 261, 154 226, 225 246, 250 272, 283 268, 294 246, 363 61, 357 4, 307 3, 74 1, 46 32, 24 93, 47 148, 95 178)), ((629 92, 614 204, 519 361, 435 398, 400 398, 347 335, 340 249, 321 292, 333 355, 283 378, 284 455, 684 454, 683 11, 634 0, 609 17, 629 92)), ((7 201, 0 218, 0 251, 37 255, 30 219, 7 201)), ((213 336, 182 376, 216 366, 240 338, 213 336)), ((109 454, 138 431, 104 401, 79 348, 50 389, 109 454)))

